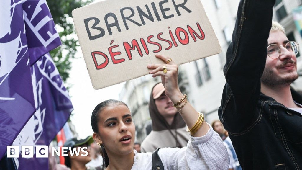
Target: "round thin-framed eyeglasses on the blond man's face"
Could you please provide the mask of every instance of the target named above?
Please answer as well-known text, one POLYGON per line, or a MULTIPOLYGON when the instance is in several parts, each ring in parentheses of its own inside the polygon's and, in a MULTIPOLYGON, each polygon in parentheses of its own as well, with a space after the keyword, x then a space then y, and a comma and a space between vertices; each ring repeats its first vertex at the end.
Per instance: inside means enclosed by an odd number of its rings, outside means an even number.
POLYGON ((271 59, 276 59, 280 56, 281 49, 280 47, 283 46, 285 47, 289 52, 293 53, 294 55, 297 55, 299 52, 299 44, 295 41, 289 41, 285 45, 277 45, 277 44, 271 44, 267 47, 267 54, 268 57, 271 59))

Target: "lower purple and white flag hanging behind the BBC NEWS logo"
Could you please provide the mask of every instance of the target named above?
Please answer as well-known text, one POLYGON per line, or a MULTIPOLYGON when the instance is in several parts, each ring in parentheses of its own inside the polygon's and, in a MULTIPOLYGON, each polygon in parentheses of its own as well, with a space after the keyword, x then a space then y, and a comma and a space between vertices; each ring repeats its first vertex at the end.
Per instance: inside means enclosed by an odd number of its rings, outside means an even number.
MULTIPOLYGON (((24 126, 13 145, 49 145, 73 110, 68 91, 56 66, 46 54, 32 66, 36 113, 24 126)), ((48 169, 48 158, 15 159, 18 169, 48 169)))

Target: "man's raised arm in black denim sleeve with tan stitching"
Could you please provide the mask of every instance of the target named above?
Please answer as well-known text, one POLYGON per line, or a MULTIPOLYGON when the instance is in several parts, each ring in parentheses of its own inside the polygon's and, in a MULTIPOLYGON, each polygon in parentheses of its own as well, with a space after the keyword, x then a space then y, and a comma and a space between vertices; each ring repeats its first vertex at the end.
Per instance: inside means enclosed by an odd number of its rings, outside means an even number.
POLYGON ((223 72, 226 84, 220 120, 231 132, 240 132, 257 119, 260 78, 267 57, 267 39, 271 29, 275 0, 241 0, 232 43, 226 54, 223 72), (228 120, 232 120, 229 121, 228 120), (236 124, 236 128, 231 126, 236 124))

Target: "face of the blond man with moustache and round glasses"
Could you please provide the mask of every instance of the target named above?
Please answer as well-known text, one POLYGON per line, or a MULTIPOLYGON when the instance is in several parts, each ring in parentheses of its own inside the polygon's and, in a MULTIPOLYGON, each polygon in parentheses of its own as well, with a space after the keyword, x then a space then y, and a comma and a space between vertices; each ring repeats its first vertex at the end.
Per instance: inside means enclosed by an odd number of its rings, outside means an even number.
MULTIPOLYGON (((269 44, 285 45, 288 38, 281 31, 271 31, 268 37, 269 44)), ((298 78, 297 57, 284 46, 280 47, 280 56, 276 59, 266 57, 265 68, 261 82, 268 86, 289 85, 298 78)))

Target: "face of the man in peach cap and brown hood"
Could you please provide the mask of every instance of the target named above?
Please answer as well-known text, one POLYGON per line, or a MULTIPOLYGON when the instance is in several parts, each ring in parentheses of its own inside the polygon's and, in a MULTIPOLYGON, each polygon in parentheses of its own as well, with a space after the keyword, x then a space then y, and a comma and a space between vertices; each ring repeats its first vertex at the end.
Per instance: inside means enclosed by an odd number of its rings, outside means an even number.
POLYGON ((159 98, 155 99, 157 110, 164 118, 172 117, 177 113, 177 109, 172 104, 172 101, 165 93, 162 93, 159 98))

